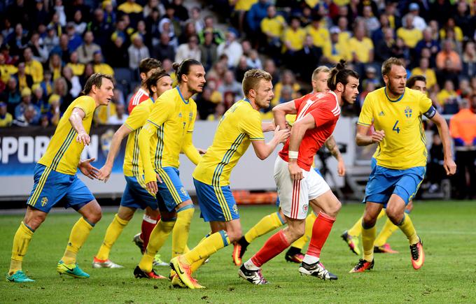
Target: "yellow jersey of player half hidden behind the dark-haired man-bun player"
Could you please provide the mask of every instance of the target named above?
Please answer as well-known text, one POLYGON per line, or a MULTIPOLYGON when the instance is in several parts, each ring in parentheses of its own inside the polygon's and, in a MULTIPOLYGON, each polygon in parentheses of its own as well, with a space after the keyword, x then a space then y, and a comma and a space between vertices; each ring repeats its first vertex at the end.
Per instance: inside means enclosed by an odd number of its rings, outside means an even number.
MULTIPOLYGON (((154 104, 152 98, 147 99, 137 105, 131 115, 125 120, 125 126, 132 132, 127 136, 125 145, 125 155, 123 171, 125 176, 141 177, 144 173, 142 160, 139 154, 139 132, 146 123, 147 118, 151 114, 151 108, 154 104)), ((157 145, 157 136, 151 136, 151 147, 157 145)))

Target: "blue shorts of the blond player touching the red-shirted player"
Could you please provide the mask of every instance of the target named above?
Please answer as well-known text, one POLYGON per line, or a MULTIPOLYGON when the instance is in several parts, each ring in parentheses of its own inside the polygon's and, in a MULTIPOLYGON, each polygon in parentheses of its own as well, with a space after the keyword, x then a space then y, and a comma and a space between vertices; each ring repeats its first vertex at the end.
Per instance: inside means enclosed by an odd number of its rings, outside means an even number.
POLYGON ((229 222, 239 219, 237 203, 230 186, 212 186, 193 179, 197 190, 198 204, 205 222, 229 222))

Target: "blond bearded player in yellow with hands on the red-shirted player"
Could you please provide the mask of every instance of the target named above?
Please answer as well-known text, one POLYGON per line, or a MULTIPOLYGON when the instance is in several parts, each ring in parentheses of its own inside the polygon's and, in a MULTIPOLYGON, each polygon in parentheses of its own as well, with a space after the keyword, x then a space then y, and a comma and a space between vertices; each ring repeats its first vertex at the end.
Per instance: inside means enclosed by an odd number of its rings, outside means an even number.
MULTIPOLYGON (((263 131, 274 130, 274 124, 261 123, 260 108, 268 108, 274 94, 272 77, 257 69, 247 71, 243 79, 245 98, 235 103, 223 115, 211 147, 193 171, 200 210, 205 222, 210 222, 211 234, 190 252, 170 261, 181 282, 190 289, 203 288, 192 277, 211 254, 241 238, 237 204, 230 190, 230 173, 246 152, 250 143, 256 156, 266 159, 279 143, 289 136, 287 129, 276 127, 274 137, 265 143, 263 131)), ((175 277, 172 281, 178 281, 175 277)))

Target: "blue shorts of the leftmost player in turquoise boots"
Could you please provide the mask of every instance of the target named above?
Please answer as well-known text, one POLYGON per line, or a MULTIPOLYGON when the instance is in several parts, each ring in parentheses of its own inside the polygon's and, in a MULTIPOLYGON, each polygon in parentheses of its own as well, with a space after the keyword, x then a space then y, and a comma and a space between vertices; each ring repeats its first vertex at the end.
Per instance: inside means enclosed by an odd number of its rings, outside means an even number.
POLYGON ((94 196, 76 174, 59 173, 50 167, 36 164, 34 185, 27 205, 48 213, 59 201, 64 203, 64 208, 71 207, 77 211, 94 201, 94 196))

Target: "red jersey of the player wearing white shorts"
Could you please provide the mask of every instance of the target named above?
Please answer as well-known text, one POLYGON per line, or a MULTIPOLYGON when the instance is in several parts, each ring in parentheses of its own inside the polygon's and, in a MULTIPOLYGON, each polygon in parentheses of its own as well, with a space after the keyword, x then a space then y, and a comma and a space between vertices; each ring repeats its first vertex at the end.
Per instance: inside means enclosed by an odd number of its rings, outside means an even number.
MULTIPOLYGON (((340 106, 334 92, 310 93, 295 99, 294 103, 297 109, 296 122, 307 114, 312 115, 316 122, 314 129, 308 129, 304 133, 297 157, 297 165, 309 171, 314 155, 334 131, 340 116, 340 106)), ((279 152, 279 157, 284 161, 289 161, 289 140, 290 138, 286 140, 283 149, 279 152)))

